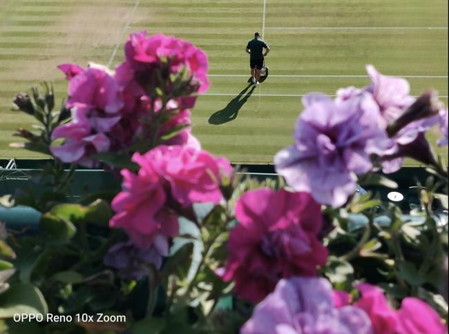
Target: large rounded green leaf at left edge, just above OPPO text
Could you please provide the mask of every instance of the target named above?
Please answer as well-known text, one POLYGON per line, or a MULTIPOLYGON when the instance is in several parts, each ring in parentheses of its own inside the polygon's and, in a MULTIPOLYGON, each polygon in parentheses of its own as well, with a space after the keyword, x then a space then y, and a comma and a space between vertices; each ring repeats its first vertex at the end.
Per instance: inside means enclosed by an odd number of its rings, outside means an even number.
POLYGON ((0 318, 12 317, 17 313, 48 313, 47 303, 39 288, 19 283, 0 295, 0 318))

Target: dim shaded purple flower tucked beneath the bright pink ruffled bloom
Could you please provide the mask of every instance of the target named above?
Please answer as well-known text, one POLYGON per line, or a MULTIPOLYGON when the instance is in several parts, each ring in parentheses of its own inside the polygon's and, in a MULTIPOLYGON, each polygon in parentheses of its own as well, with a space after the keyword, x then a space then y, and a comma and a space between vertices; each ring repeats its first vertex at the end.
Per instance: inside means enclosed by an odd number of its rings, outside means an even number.
POLYGON ((106 266, 117 269, 120 278, 139 280, 148 275, 148 264, 160 269, 163 256, 169 256, 169 243, 166 237, 157 235, 153 244, 144 249, 135 246, 131 240, 119 242, 109 248, 103 261, 106 266))

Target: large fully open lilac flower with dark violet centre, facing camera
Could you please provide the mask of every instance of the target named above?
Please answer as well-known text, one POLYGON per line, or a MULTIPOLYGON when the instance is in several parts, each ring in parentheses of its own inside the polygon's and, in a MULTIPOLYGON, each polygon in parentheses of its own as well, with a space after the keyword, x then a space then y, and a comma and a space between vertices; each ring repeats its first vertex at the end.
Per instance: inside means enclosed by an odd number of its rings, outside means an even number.
POLYGON ((317 202, 341 206, 356 189, 356 175, 372 168, 370 154, 386 139, 377 125, 379 107, 368 93, 335 101, 309 94, 303 104, 295 144, 276 154, 276 171, 317 202))

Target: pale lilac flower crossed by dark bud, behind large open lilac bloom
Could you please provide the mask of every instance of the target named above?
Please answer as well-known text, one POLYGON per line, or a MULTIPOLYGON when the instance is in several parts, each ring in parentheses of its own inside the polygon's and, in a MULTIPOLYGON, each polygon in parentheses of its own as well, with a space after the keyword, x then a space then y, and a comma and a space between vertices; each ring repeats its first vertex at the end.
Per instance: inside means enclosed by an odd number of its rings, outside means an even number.
MULTIPOLYGON (((339 89, 336 101, 347 101, 363 94, 372 95, 379 106, 379 128, 390 135, 390 138, 378 141, 372 153, 380 157, 384 173, 394 173, 401 168, 404 157, 410 157, 406 153, 415 150, 414 143, 422 141, 420 134, 438 123, 437 113, 441 104, 434 91, 415 99, 409 95, 407 80, 381 75, 372 65, 368 65, 366 69, 371 78, 370 86, 362 89, 352 86, 339 89)), ((430 151, 422 155, 428 161, 430 151)), ((416 153, 413 158, 424 162, 416 153)))

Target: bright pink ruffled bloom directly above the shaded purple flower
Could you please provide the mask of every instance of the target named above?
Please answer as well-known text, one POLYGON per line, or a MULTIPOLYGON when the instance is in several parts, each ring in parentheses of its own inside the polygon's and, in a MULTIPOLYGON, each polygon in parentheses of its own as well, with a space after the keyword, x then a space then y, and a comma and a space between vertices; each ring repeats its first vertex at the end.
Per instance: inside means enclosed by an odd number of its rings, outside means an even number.
POLYGON ((110 226, 123 228, 140 248, 151 245, 156 235, 178 235, 173 209, 219 202, 220 173, 231 173, 227 160, 189 146, 161 145, 135 153, 132 160, 140 170, 137 175, 122 170, 123 190, 113 199, 116 215, 110 226))

